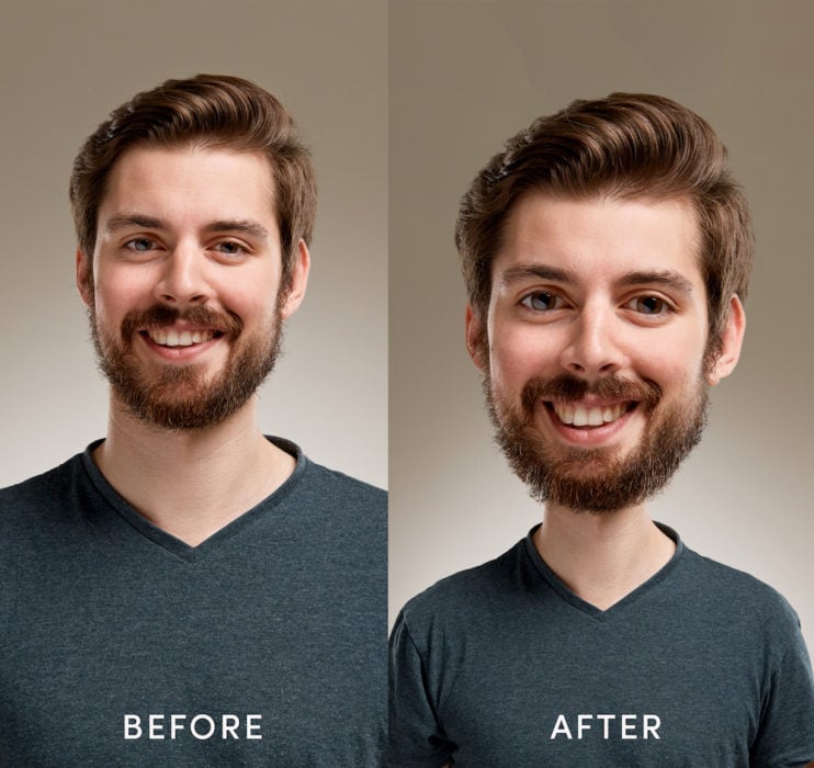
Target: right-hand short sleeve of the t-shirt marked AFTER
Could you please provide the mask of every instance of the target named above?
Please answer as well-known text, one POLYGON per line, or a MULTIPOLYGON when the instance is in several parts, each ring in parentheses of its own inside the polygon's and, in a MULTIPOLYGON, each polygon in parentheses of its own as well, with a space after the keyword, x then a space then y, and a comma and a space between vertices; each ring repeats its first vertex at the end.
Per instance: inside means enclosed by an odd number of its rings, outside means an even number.
POLYGON ((791 647, 772 671, 760 730, 751 749, 756 768, 814 760, 814 678, 799 624, 791 647))

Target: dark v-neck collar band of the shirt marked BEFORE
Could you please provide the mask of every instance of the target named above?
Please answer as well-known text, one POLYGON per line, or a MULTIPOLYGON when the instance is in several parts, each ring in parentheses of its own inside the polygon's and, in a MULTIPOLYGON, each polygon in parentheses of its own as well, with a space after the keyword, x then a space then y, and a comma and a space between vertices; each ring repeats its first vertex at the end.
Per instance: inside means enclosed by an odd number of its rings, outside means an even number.
POLYGON ((237 535, 246 527, 253 522, 268 511, 270 506, 279 505, 292 489, 301 482, 305 472, 308 460, 303 455, 299 447, 283 438, 269 437, 265 439, 276 445, 279 449, 292 455, 296 465, 294 472, 285 482, 276 488, 270 496, 267 496, 251 509, 248 509, 231 522, 215 531, 208 539, 205 539, 196 546, 191 546, 184 541, 177 539, 171 533, 154 526, 147 518, 132 507, 127 500, 108 482, 93 461, 93 451, 99 448, 103 440, 92 442, 82 453, 82 466, 87 472, 94 488, 101 494, 111 509, 128 526, 139 534, 151 541, 177 557, 193 563, 206 556, 210 552, 222 546, 226 541, 237 535))

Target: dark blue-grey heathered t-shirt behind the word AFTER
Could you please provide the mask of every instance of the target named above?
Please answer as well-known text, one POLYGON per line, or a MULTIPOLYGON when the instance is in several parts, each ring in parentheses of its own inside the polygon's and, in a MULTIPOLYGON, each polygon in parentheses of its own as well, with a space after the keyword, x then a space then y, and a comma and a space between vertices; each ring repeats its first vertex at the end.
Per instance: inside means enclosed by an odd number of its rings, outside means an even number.
POLYGON ((551 572, 531 534, 408 602, 391 641, 389 765, 814 759, 796 615, 770 587, 664 530, 672 560, 607 611, 551 572))

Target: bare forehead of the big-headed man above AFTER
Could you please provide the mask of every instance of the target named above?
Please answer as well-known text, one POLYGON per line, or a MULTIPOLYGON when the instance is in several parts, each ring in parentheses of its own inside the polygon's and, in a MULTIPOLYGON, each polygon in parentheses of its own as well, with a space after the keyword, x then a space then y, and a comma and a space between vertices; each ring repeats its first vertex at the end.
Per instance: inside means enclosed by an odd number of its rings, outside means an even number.
POLYGON ((562 199, 531 192, 506 221, 493 289, 522 266, 543 264, 586 286, 634 272, 670 271, 703 292, 699 245, 697 214, 683 199, 562 199))

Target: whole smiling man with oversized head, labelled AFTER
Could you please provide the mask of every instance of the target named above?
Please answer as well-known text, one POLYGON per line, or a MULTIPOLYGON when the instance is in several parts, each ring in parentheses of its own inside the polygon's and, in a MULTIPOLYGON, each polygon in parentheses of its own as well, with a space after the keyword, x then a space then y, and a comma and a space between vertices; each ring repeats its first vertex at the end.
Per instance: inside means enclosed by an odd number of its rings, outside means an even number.
POLYGON ((541 117, 456 226, 466 343, 543 523, 414 598, 391 648, 393 766, 800 766, 796 615, 648 517, 735 368, 753 236, 725 149, 672 101, 541 117))

